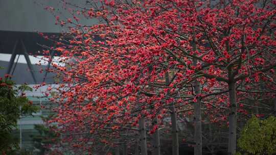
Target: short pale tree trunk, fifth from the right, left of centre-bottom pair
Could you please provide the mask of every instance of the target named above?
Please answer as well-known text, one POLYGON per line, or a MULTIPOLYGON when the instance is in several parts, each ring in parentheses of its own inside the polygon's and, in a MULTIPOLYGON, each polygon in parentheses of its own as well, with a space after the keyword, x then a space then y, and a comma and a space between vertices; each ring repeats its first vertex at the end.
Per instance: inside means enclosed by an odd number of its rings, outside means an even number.
POLYGON ((139 131, 140 131, 140 145, 141 145, 141 154, 147 155, 147 138, 146 138, 146 128, 145 128, 145 119, 141 117, 139 119, 139 131))

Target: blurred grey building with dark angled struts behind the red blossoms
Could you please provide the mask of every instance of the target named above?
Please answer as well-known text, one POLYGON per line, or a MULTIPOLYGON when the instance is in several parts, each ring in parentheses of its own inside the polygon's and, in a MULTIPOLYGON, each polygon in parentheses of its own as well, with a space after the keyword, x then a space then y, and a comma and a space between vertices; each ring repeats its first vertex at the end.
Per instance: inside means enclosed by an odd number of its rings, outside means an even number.
MULTIPOLYGON (((73 6, 85 6, 85 0, 68 0, 67 4, 73 6)), ((53 41, 43 38, 45 36, 57 38, 66 32, 60 25, 55 24, 55 16, 66 21, 72 18, 74 12, 64 9, 64 1, 59 0, 0 0, 0 77, 5 74, 12 75, 12 80, 17 84, 28 84, 33 87, 39 83, 54 83, 54 74, 41 72, 51 65, 41 61, 44 47, 53 47, 53 41), (34 57, 36 56, 36 57, 34 57), (41 63, 40 66, 36 65, 41 63)), ((75 15, 75 14, 74 14, 75 15)), ((82 24, 93 24, 93 21, 82 15, 77 15, 82 24)), ((55 59, 57 54, 50 51, 49 56, 55 59)), ((42 90, 41 90, 42 89, 42 90)), ((27 96, 38 107, 48 107, 50 102, 43 97, 40 88, 36 91, 27 92, 27 96)), ((30 135, 37 134, 35 124, 43 124, 41 116, 49 115, 49 109, 41 109, 39 112, 18 120, 18 132, 22 149, 33 149, 30 135)))

